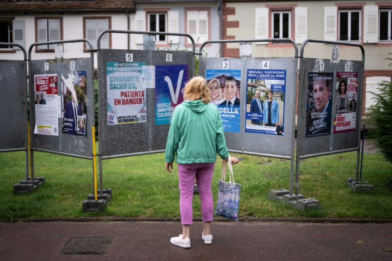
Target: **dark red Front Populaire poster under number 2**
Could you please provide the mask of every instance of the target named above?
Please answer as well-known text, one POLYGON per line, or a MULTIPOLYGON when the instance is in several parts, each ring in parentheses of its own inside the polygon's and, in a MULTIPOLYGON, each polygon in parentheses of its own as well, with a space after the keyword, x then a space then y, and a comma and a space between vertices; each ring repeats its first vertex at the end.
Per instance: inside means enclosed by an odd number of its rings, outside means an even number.
POLYGON ((358 72, 336 72, 334 133, 355 131, 358 72))

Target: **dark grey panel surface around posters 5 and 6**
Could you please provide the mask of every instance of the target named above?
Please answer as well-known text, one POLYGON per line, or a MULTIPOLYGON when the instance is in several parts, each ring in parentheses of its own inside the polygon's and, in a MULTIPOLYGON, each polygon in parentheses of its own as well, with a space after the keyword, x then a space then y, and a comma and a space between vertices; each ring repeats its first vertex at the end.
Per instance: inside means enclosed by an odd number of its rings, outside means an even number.
POLYGON ((143 51, 102 49, 99 54, 98 106, 100 154, 103 159, 162 152, 166 147, 170 124, 155 125, 155 90, 146 89, 146 122, 135 124, 107 124, 106 62, 125 62, 125 54, 133 54, 133 62, 146 62, 147 66, 161 64, 187 64, 188 77, 194 75, 193 54, 190 51, 143 51), (166 54, 172 62, 166 62, 166 54))

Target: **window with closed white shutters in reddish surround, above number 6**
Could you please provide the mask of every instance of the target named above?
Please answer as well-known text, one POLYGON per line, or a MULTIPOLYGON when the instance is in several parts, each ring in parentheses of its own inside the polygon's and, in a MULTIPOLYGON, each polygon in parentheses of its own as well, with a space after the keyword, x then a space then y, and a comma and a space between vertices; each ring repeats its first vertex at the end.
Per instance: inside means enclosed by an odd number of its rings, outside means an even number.
MULTIPOLYGON (((187 11, 187 33, 197 44, 209 39, 208 11, 187 11)), ((188 44, 191 40, 188 38, 188 44)))

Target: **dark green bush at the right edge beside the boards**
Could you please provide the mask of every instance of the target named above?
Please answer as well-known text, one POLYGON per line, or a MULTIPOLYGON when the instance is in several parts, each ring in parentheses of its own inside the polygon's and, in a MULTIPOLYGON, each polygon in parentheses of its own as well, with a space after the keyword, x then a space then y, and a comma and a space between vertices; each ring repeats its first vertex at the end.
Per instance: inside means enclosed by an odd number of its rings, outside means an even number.
MULTIPOLYGON (((392 63, 389 66, 392 67, 392 63)), ((371 126, 369 138, 374 148, 379 149, 384 158, 392 163, 392 82, 383 81, 379 86, 377 89, 380 93, 369 92, 376 101, 368 111, 370 117, 367 124, 371 126)))

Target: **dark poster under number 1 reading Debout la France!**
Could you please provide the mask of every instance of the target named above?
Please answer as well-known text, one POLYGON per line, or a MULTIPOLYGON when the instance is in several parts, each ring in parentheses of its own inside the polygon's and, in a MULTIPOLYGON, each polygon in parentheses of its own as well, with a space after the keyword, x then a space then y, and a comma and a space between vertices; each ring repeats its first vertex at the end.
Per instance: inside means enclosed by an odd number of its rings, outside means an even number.
POLYGON ((308 73, 305 137, 330 135, 333 73, 308 73))

